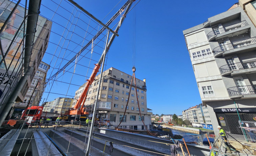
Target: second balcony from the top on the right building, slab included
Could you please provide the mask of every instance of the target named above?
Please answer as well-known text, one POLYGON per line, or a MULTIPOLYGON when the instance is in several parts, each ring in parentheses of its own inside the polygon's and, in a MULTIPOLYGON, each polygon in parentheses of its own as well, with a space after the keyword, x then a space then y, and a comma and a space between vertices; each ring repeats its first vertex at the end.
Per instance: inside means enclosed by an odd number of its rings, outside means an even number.
POLYGON ((236 41, 233 43, 217 46, 216 48, 214 48, 212 50, 212 53, 213 53, 214 57, 217 57, 220 55, 224 56, 225 54, 232 54, 237 51, 240 51, 240 52, 252 51, 253 49, 256 49, 256 46, 254 44, 256 44, 256 37, 252 37, 249 39, 240 40, 240 41, 236 41), (242 47, 249 46, 249 45, 253 45, 253 46, 247 47, 247 48, 242 48, 242 47), (234 49, 237 49, 237 50, 234 50, 234 49))

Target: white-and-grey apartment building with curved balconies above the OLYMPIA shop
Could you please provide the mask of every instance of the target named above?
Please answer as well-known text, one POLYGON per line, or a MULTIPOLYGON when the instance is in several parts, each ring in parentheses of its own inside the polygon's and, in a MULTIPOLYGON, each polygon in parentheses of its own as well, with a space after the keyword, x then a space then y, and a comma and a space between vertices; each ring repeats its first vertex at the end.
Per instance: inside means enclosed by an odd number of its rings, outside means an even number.
POLYGON ((255 26, 238 6, 183 34, 215 134, 218 125, 230 134, 242 134, 237 113, 244 121, 256 119, 255 26))

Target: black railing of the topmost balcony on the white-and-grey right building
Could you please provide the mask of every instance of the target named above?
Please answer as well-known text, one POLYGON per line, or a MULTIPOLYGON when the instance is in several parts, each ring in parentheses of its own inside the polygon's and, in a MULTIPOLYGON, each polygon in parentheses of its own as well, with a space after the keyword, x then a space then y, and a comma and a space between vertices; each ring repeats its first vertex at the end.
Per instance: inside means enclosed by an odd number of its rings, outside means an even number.
POLYGON ((240 23, 233 24, 233 25, 227 26, 225 28, 214 29, 213 31, 211 31, 207 34, 207 38, 209 39, 212 36, 222 34, 222 33, 225 33, 225 32, 228 32, 228 31, 231 31, 231 30, 234 30, 234 29, 238 29, 238 28, 241 28, 241 27, 245 27, 245 26, 248 26, 248 23, 246 21, 242 21, 240 23))

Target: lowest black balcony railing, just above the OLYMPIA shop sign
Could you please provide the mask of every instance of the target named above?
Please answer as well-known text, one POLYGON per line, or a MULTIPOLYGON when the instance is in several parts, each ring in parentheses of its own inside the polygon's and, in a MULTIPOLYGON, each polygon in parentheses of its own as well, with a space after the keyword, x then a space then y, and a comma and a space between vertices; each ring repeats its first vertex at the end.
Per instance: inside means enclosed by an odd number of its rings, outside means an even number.
POLYGON ((256 94, 256 85, 228 88, 229 96, 256 94))

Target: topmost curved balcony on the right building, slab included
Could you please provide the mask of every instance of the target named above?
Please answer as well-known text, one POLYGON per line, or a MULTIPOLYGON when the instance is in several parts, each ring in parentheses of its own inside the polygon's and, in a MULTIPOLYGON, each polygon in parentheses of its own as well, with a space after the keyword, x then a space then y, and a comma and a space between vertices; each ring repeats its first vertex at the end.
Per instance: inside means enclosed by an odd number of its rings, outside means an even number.
MULTIPOLYGON (((229 32, 228 34, 231 34, 232 36, 246 33, 244 31, 241 31, 242 29, 240 29, 240 28, 243 28, 248 25, 249 24, 246 21, 242 21, 240 23, 236 23, 236 24, 224 27, 224 28, 214 29, 213 31, 211 31, 207 34, 208 41, 213 40, 214 38, 219 39, 220 36, 226 37, 226 35, 227 35, 226 32, 229 32), (232 31, 232 30, 234 30, 234 31, 232 31), (237 31, 240 31, 240 32, 237 33, 237 31), (225 34, 223 34, 223 33, 225 33, 225 34), (234 33, 236 33, 236 34, 234 34, 234 33), (219 34, 222 34, 222 35, 219 35, 219 34), (217 38, 217 36, 218 36, 218 38, 217 38)), ((245 27, 245 29, 248 29, 248 28, 245 27)))

